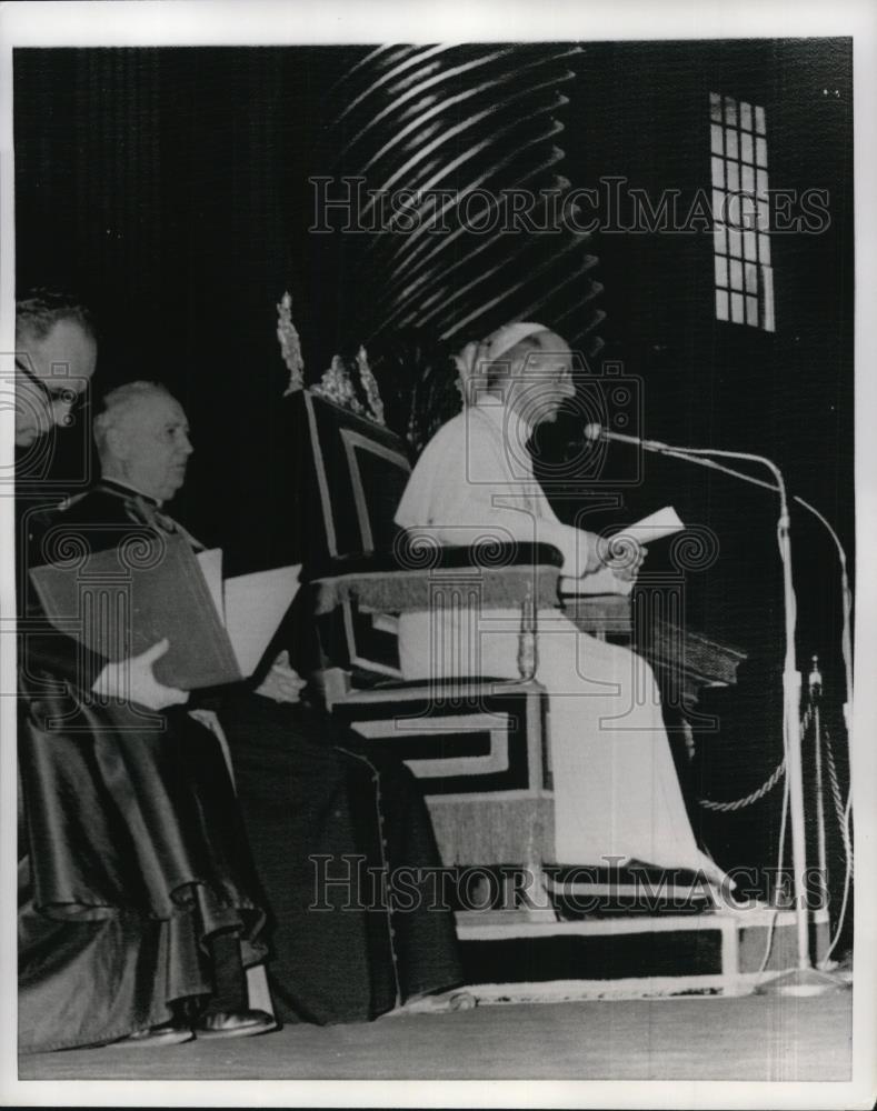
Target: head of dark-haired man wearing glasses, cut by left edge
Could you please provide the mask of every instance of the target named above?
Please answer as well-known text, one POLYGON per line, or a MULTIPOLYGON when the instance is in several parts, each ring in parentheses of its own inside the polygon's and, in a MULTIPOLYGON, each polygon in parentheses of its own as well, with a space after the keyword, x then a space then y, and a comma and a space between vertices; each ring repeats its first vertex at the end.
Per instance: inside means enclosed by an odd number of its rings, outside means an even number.
POLYGON ((16 447, 69 422, 97 359, 91 316, 76 298, 34 290, 17 302, 16 447))

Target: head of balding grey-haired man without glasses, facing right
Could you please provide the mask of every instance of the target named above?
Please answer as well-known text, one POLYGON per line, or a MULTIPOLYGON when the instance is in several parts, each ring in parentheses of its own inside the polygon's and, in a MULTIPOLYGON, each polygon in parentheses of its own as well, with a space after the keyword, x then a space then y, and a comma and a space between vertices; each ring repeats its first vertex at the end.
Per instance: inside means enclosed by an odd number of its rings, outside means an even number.
POLYGON ((128 382, 103 399, 94 418, 104 478, 169 501, 186 481, 193 448, 182 406, 157 382, 128 382))

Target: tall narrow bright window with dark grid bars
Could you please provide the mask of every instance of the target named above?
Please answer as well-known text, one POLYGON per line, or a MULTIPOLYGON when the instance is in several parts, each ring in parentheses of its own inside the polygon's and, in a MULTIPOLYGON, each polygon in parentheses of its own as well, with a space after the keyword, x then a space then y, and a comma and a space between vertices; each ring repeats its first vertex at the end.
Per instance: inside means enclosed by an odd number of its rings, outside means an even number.
POLYGON ((710 92, 709 130, 716 319, 773 332, 765 110, 710 92))

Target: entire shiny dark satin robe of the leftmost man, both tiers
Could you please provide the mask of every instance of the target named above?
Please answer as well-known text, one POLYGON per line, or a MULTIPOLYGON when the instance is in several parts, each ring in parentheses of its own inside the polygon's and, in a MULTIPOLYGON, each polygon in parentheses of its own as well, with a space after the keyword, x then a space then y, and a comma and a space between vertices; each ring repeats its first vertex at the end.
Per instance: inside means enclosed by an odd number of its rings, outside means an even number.
MULTIPOLYGON (((112 543, 131 527, 129 498, 98 488, 50 520, 112 543)), ((263 899, 212 733, 180 708, 92 699, 71 678, 69 638, 26 637, 24 647, 22 1052, 168 1021, 175 1004, 212 991, 211 935, 240 937, 245 964, 265 952, 263 899)))

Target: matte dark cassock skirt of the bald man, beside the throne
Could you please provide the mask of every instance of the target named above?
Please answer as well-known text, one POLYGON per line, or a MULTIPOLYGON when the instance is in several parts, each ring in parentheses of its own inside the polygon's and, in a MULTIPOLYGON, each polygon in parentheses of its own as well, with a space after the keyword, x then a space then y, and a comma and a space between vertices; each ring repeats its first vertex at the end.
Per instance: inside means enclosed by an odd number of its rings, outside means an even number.
POLYGON ((217 709, 270 903, 278 1018, 362 1021, 459 983, 452 915, 432 895, 438 849, 411 772, 357 751, 361 738, 306 705, 229 688, 217 709), (411 905, 383 887, 400 869, 412 878, 411 905))

